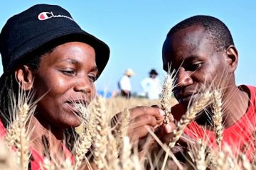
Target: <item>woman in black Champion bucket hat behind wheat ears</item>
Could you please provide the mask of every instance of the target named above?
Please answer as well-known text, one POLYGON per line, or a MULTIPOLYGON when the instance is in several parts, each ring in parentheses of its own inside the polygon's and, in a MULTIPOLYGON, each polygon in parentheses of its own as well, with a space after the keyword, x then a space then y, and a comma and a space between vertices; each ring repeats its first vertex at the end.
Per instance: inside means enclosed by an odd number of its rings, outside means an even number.
POLYGON ((70 101, 88 103, 95 96, 94 81, 105 68, 110 49, 82 30, 65 9, 41 4, 9 18, 1 30, 0 52, 4 128, 11 119, 9 91, 18 98, 21 87, 41 98, 30 123, 30 147, 34 149, 31 168, 38 169, 43 156, 42 137, 50 139, 50 147, 62 146, 63 132, 80 125, 70 101))

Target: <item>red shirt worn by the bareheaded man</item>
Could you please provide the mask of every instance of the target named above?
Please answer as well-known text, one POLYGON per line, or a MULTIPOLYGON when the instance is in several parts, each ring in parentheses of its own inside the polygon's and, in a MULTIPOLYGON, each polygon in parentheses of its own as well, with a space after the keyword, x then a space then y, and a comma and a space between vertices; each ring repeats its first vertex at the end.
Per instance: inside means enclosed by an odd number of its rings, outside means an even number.
MULTIPOLYGON (((247 108, 247 112, 242 115, 240 120, 223 130, 222 147, 225 147, 225 145, 228 144, 234 154, 238 154, 238 152, 243 150, 248 159, 252 160, 252 154, 254 152, 253 140, 255 139, 253 133, 256 130, 256 87, 242 85, 240 86, 240 89, 249 94, 250 104, 247 108)), ((174 112, 174 118, 176 118, 176 120, 181 118, 181 113, 185 113, 185 110, 178 104, 172 108, 172 111, 174 112)), ((213 147, 217 147, 217 144, 215 143, 215 132, 203 129, 203 127, 198 125, 196 121, 190 123, 184 132, 194 139, 206 139, 207 135, 210 144, 213 145, 213 147)))

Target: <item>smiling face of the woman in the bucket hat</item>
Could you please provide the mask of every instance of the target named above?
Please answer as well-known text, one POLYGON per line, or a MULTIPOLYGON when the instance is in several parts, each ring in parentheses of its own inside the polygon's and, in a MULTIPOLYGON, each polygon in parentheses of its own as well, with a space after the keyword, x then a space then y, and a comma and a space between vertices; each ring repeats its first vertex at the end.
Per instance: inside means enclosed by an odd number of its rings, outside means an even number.
POLYGON ((95 50, 83 42, 67 42, 41 57, 33 89, 38 101, 36 117, 58 128, 80 125, 70 101, 90 102, 97 77, 95 50))

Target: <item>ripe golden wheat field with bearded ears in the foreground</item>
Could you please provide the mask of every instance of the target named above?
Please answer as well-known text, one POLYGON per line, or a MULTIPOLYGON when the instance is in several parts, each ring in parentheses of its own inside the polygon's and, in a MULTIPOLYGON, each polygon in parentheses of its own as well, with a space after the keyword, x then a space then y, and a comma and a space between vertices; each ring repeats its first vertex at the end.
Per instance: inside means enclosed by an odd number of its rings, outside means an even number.
MULTIPOLYGON (((221 146, 223 140, 221 91, 208 89, 196 98, 188 107, 181 120, 176 122, 176 130, 167 143, 149 130, 149 139, 156 141, 149 149, 139 147, 129 140, 129 108, 135 106, 158 105, 165 112, 164 124, 171 114, 171 106, 177 102, 170 98, 173 86, 166 77, 160 100, 146 98, 101 98, 97 96, 89 106, 77 103, 82 125, 76 129, 79 136, 71 150, 73 160, 61 153, 49 153, 41 162, 41 169, 256 169, 254 156, 250 160, 245 153, 233 153, 233 148, 221 146), (207 140, 193 140, 187 143, 186 152, 177 155, 182 146, 178 140, 183 137, 183 130, 191 123, 196 114, 212 105, 214 131, 218 148, 211 147, 207 140), (119 116, 115 116, 120 113, 119 116), (114 125, 113 125, 114 123, 114 125)), ((28 123, 35 111, 36 104, 31 103, 25 93, 15 101, 14 121, 7 128, 4 140, 0 141, 0 169, 28 169, 31 151, 28 123), (15 148, 15 149, 14 149, 15 148), (13 162, 15 160, 15 162, 13 162), (12 162, 12 163, 11 163, 12 162)), ((255 142, 253 140, 251 142, 255 142)), ((149 142, 150 144, 150 142, 149 142)), ((60 152, 60 151, 59 151, 60 152)))

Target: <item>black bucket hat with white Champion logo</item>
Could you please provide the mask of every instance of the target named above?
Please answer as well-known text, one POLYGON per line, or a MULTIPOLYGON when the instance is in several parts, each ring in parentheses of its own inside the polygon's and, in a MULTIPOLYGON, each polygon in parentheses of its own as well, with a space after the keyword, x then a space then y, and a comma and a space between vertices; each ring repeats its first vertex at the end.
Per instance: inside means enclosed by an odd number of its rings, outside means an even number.
MULTIPOLYGON (((5 72, 16 67, 26 55, 59 38, 70 38, 95 49, 98 76, 110 57, 110 48, 93 35, 86 33, 64 8, 38 4, 9 18, 0 35, 0 52, 5 72)), ((68 40, 67 40, 68 42, 68 40)))

